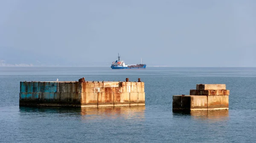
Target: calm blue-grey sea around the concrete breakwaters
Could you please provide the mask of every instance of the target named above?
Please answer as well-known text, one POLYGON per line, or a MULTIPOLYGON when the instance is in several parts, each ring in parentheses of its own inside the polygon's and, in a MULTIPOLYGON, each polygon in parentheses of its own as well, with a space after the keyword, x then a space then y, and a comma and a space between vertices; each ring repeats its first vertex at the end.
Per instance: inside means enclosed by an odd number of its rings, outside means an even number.
POLYGON ((256 67, 0 67, 0 143, 255 143, 256 67), (145 106, 19 107, 20 81, 145 82, 145 106), (172 112, 173 95, 226 84, 229 110, 172 112))

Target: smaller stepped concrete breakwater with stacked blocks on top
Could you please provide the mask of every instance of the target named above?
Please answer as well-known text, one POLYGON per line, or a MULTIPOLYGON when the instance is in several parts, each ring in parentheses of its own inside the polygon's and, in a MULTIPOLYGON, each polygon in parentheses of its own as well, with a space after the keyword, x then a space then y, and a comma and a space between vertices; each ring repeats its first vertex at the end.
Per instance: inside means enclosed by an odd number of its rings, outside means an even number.
POLYGON ((197 84, 189 95, 173 95, 173 111, 228 110, 230 91, 226 84, 197 84))

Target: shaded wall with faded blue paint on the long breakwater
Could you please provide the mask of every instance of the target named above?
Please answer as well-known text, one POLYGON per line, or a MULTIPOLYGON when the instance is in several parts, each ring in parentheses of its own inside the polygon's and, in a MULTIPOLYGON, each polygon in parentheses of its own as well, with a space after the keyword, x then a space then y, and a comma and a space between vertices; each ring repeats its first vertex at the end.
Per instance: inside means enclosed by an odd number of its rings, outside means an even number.
POLYGON ((80 107, 79 82, 20 82, 21 106, 80 107))

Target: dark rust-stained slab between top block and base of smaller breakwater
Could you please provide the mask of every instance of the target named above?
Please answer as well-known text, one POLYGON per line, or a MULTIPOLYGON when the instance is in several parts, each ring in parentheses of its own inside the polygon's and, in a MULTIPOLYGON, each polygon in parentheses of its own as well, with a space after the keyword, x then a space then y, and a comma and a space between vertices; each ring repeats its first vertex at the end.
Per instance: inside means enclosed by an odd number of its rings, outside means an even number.
POLYGON ((229 90, 190 90, 190 95, 229 95, 229 90))

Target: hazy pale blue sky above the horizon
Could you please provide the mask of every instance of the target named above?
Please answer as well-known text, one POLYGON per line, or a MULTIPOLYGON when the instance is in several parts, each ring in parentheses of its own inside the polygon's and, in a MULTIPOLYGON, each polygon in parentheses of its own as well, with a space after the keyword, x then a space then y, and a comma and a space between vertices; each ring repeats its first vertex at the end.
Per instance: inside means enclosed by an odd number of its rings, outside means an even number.
POLYGON ((255 0, 0 0, 0 65, 256 67, 255 0), (3 64, 4 63, 4 64, 3 64))

